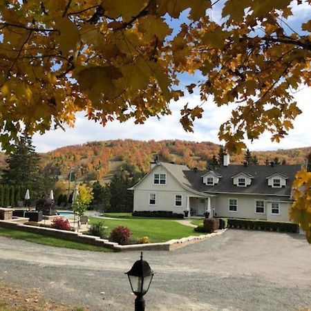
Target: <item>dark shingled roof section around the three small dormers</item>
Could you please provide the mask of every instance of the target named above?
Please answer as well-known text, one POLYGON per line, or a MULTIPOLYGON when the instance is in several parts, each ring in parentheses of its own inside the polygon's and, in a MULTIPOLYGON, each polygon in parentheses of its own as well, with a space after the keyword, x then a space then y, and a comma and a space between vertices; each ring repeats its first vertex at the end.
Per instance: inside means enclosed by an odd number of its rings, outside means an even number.
POLYGON ((292 181, 296 171, 301 169, 301 165, 229 165, 228 167, 220 167, 217 173, 220 173, 223 178, 217 185, 205 185, 200 176, 205 174, 205 171, 185 171, 185 176, 189 180, 191 187, 197 191, 207 192, 210 194, 217 193, 235 193, 235 194, 267 194, 275 196, 290 196, 292 181), (253 177, 251 185, 247 187, 238 187, 233 185, 232 176, 238 173, 245 173, 253 177), (267 185, 267 176, 272 176, 274 173, 279 173, 283 176, 288 176, 288 182, 285 187, 273 188, 267 185))

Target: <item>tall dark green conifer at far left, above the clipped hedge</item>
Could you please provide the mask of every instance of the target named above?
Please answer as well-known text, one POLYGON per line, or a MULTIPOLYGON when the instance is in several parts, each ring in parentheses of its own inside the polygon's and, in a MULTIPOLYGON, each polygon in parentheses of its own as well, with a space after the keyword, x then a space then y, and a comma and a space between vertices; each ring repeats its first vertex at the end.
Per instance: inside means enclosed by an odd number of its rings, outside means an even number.
POLYGON ((3 182, 8 185, 27 185, 32 189, 32 198, 44 194, 42 188, 46 180, 39 169, 40 156, 35 152, 32 139, 23 135, 15 151, 6 160, 8 168, 3 170, 3 182))

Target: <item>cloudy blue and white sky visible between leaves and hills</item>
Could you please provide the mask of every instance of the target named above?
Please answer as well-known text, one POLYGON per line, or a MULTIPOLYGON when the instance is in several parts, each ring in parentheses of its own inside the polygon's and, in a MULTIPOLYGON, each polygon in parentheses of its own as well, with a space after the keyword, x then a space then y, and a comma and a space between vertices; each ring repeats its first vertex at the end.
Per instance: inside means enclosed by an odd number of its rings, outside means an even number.
MULTIPOLYGON (((221 3, 219 4, 221 5, 221 3)), ((311 6, 295 6, 293 8, 294 17, 288 21, 290 26, 299 31, 301 21, 308 20, 311 15, 311 6)), ((208 14, 214 21, 221 19, 221 8, 208 14)), ((182 17, 184 19, 184 17, 182 17)), ((182 20, 181 20, 182 21, 182 20)), ((180 21, 171 21, 174 28, 178 28, 180 21)), ((187 82, 181 80, 181 84, 187 82)), ((278 144, 271 142, 270 133, 264 133, 260 139, 249 142, 247 147, 251 151, 264 151, 276 149, 290 149, 299 147, 311 147, 311 88, 303 87, 294 94, 295 100, 303 113, 296 117, 294 129, 288 132, 288 135, 278 144)), ((47 152, 58 147, 64 147, 71 144, 84 144, 91 141, 132 139, 132 140, 191 140, 196 142, 209 141, 220 144, 218 140, 218 129, 220 124, 225 122, 229 116, 232 106, 217 107, 212 100, 209 100, 204 106, 205 112, 200 120, 194 122, 194 133, 187 133, 180 124, 180 109, 189 102, 190 106, 200 104, 198 95, 188 95, 178 102, 171 102, 172 114, 161 117, 151 117, 144 124, 134 124, 133 121, 120 123, 110 122, 105 127, 84 117, 85 113, 77 113, 75 128, 66 131, 62 129, 52 130, 44 135, 36 134, 33 142, 37 152, 47 152)))

